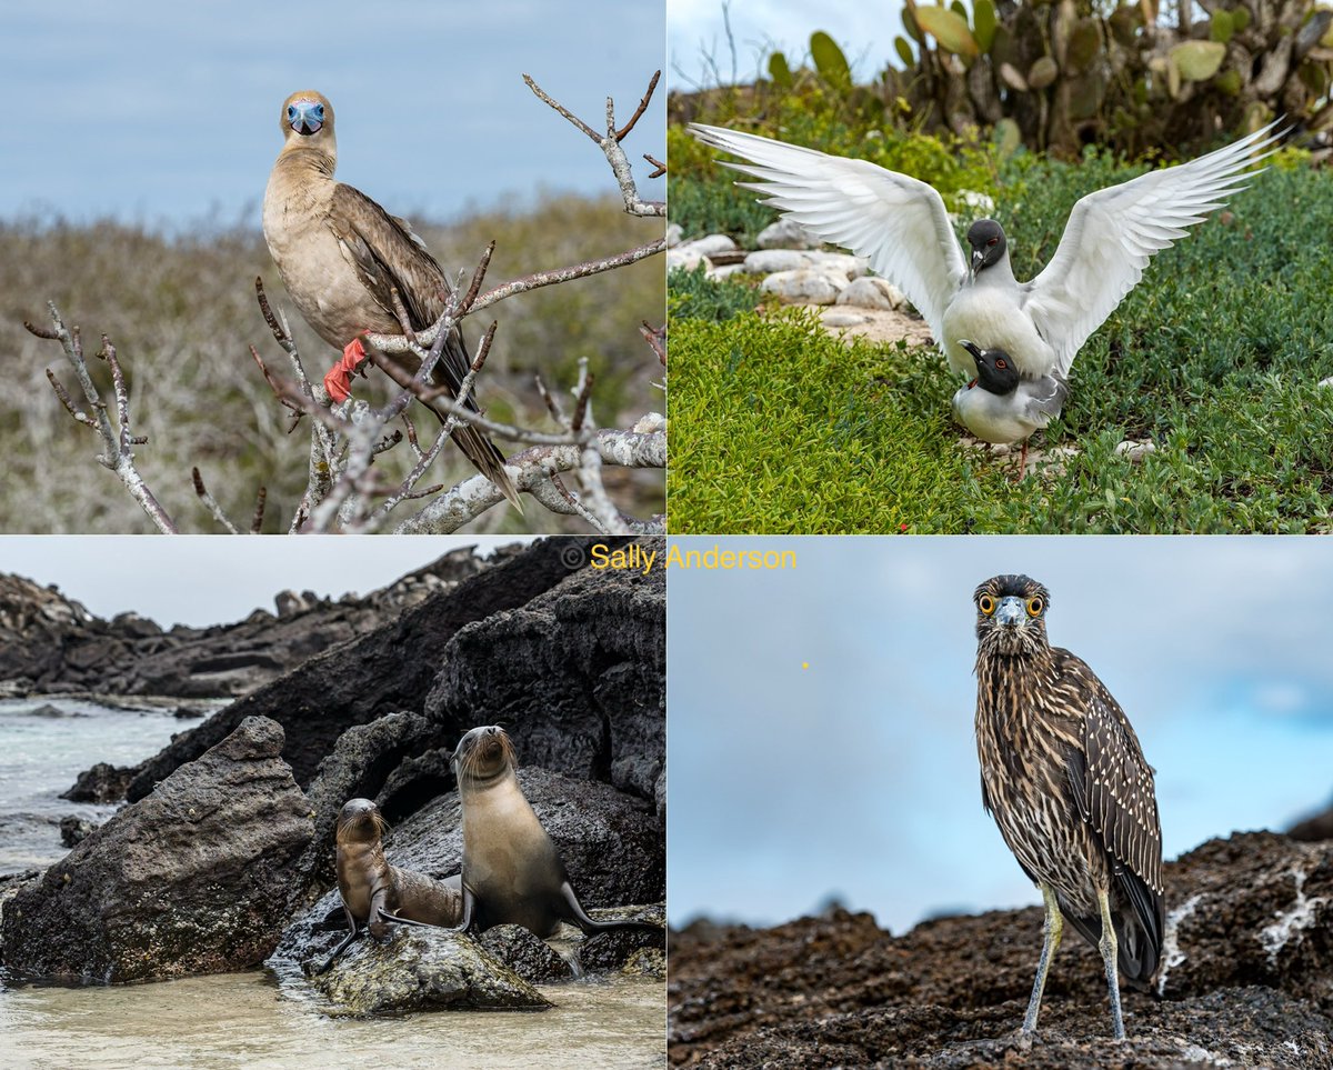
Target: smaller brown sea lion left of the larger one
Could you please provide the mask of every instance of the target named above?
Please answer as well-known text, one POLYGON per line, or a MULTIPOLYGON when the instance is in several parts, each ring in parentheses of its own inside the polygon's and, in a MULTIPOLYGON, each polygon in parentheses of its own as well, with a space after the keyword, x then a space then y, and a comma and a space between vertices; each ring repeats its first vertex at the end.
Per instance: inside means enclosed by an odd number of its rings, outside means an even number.
POLYGON ((337 815, 337 890, 351 929, 316 973, 324 973, 347 946, 369 930, 384 939, 389 922, 453 929, 463 917, 457 878, 436 881, 391 866, 384 857, 384 815, 369 799, 348 799, 337 815))

